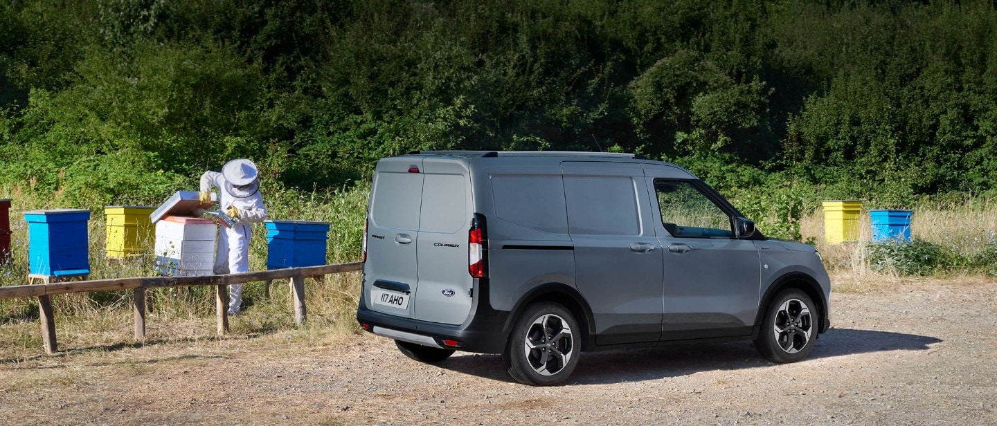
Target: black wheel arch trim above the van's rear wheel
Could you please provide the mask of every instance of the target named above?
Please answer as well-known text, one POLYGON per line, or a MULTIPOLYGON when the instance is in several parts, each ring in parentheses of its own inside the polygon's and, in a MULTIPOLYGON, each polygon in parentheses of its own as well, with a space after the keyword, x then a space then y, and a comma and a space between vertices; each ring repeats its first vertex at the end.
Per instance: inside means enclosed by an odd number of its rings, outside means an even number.
POLYGON ((588 349, 595 335, 595 319, 592 317, 592 309, 577 290, 561 283, 547 283, 537 286, 519 298, 502 327, 502 335, 506 341, 509 333, 512 332, 515 321, 522 315, 522 311, 529 305, 538 302, 553 302, 567 309, 574 316, 574 320, 578 321, 578 327, 584 334, 578 340, 581 342, 581 350, 588 349))

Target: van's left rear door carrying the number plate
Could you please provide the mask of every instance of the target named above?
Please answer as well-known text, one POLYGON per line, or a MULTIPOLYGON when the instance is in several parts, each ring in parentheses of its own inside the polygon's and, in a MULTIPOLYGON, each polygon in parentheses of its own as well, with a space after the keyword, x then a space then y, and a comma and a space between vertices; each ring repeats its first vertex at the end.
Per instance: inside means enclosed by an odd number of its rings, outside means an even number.
POLYGON ((417 248, 422 208, 423 158, 378 161, 367 223, 364 298, 367 309, 413 318, 419 287, 417 248))

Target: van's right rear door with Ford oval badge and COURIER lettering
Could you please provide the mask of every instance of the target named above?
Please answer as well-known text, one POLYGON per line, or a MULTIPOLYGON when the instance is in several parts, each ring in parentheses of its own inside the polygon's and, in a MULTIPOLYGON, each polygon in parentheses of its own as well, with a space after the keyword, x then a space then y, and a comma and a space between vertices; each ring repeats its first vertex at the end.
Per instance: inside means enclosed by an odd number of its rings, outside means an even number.
POLYGON ((419 291, 415 319, 463 323, 472 307, 468 232, 474 210, 467 162, 427 157, 419 221, 419 291))

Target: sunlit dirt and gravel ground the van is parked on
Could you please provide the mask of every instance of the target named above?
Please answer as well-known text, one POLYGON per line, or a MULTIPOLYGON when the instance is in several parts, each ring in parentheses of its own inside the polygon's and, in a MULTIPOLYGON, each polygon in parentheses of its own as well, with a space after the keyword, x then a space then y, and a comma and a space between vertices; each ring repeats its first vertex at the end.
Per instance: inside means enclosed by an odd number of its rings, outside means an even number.
MULTIPOLYGON (((748 342, 583 353, 572 384, 388 339, 156 344, 0 363, 5 424, 997 424, 997 284, 833 294, 811 358, 748 342)), ((279 338, 275 336, 273 338, 279 338)))

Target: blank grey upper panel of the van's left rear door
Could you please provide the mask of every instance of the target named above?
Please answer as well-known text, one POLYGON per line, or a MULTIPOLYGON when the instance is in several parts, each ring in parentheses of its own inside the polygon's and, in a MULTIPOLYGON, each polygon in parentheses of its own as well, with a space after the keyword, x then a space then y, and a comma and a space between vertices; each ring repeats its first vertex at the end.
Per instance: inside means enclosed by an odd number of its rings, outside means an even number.
POLYGON ((374 185, 371 205, 374 223, 379 227, 418 231, 423 175, 382 171, 374 185))

